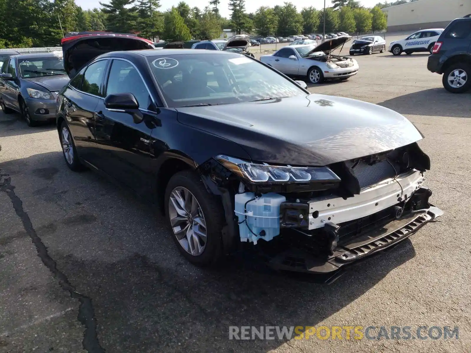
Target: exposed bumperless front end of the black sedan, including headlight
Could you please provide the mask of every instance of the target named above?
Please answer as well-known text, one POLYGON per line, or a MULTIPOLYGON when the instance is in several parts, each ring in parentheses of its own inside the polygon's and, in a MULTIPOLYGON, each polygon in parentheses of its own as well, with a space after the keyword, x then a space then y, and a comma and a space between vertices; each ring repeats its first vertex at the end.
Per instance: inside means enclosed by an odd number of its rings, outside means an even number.
POLYGON ((334 272, 441 216, 422 185, 428 169, 417 143, 322 167, 219 155, 198 168, 221 195, 227 252, 252 243, 271 267, 308 273, 334 272))

